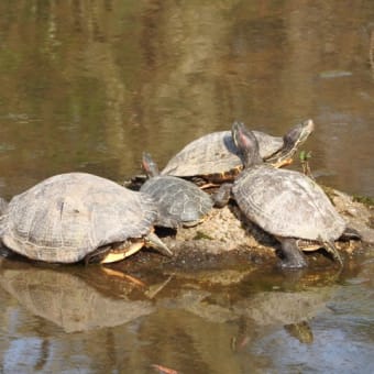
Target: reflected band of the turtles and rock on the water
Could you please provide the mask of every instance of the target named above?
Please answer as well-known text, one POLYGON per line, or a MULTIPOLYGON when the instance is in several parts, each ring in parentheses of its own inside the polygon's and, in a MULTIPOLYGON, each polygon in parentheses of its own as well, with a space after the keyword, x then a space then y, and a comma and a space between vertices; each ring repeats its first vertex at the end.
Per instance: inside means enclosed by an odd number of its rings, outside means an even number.
MULTIPOLYGON (((184 320, 187 312, 209 323, 231 321, 238 327, 238 337, 285 327, 300 342, 312 340, 307 322, 326 309, 334 289, 330 282, 316 285, 307 277, 297 283, 288 279, 287 285, 284 275, 283 280, 272 275, 271 282, 277 287, 246 289, 258 276, 249 270, 154 272, 152 277, 142 274, 139 282, 113 274, 101 267, 36 266, 3 258, 0 285, 30 312, 66 332, 111 328, 144 316, 148 317, 142 324, 147 326, 151 315, 150 320, 154 320, 173 311, 174 323, 186 334, 191 333, 184 320), (299 288, 290 286, 295 284, 299 288), (306 338, 294 332, 297 326, 305 327, 301 331, 308 332, 306 338)), ((163 323, 165 329, 176 328, 167 320, 163 323)))

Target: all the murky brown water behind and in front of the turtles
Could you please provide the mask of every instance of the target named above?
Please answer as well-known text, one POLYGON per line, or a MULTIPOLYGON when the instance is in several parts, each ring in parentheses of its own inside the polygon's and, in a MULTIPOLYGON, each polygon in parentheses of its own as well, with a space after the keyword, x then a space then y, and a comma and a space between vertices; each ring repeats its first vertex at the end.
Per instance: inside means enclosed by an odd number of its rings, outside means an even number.
MULTIPOLYGON (((0 195, 161 165, 234 119, 312 118, 318 180, 374 197, 372 1, 0 2, 0 195)), ((374 371, 373 256, 299 278, 250 270, 0 271, 6 373, 374 371)))

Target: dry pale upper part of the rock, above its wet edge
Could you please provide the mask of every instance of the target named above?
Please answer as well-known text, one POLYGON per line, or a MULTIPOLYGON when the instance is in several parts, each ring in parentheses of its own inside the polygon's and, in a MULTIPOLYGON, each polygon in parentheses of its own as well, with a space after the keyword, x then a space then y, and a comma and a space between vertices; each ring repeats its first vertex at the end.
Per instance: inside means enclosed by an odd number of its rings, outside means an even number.
MULTIPOLYGON (((362 241, 374 243, 374 207, 356 201, 336 189, 326 189, 337 210, 349 228, 356 230, 362 241)), ((195 228, 178 229, 175 235, 163 239, 176 253, 198 250, 206 254, 223 254, 231 251, 256 252, 274 255, 278 243, 266 232, 251 223, 234 202, 222 209, 213 209, 207 219, 195 228)), ((340 250, 352 252, 351 245, 337 243, 340 250), (340 244, 340 245, 339 245, 340 244)), ((360 245, 358 245, 360 246, 360 245)))

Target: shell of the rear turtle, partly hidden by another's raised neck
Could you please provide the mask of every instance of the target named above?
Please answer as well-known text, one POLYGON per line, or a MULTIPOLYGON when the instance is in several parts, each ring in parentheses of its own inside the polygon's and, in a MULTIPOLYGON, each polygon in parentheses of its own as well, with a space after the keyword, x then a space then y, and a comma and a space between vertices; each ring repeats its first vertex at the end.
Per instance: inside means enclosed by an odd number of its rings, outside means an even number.
MULTIPOLYGON (((279 151, 283 138, 253 131, 260 145, 260 155, 266 160, 279 151)), ((224 174, 242 166, 239 151, 231 131, 219 131, 204 135, 187 144, 161 172, 162 175, 179 177, 212 176, 224 174)), ((223 177, 224 179, 224 177, 223 177)))

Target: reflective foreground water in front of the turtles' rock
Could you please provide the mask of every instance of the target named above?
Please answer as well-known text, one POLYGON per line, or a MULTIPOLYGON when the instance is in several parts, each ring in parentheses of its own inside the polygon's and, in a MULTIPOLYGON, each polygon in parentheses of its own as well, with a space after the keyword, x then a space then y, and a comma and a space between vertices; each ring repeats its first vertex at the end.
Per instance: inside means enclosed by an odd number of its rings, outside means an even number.
MULTIPOLYGON (((287 371, 300 361, 314 367, 317 353, 327 356, 338 346, 339 356, 354 360, 349 350, 361 344, 367 363, 374 344, 369 329, 374 295, 367 288, 373 264, 369 261, 360 275, 353 267, 342 287, 339 274, 310 270, 128 276, 99 266, 45 267, 3 258, 0 285, 14 299, 0 289, 8 306, 1 317, 2 359, 21 370, 13 358, 32 354, 28 367, 45 372, 74 365, 146 372, 161 364, 180 372, 246 373, 253 367, 287 371), (328 341, 336 346, 329 343, 331 351, 322 353, 328 341)), ((318 367, 331 365, 320 359, 318 367)))

